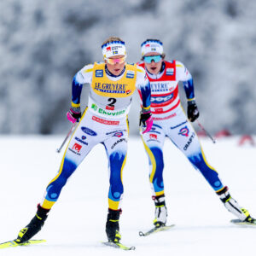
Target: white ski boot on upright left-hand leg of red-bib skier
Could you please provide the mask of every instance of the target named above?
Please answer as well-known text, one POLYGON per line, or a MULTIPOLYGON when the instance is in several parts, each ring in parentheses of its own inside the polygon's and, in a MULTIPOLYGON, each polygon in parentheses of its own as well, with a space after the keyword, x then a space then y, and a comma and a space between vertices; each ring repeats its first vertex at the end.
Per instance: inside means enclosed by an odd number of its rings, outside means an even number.
POLYGON ((167 209, 165 195, 152 196, 154 200, 155 210, 154 210, 154 226, 159 228, 166 225, 167 220, 167 209))

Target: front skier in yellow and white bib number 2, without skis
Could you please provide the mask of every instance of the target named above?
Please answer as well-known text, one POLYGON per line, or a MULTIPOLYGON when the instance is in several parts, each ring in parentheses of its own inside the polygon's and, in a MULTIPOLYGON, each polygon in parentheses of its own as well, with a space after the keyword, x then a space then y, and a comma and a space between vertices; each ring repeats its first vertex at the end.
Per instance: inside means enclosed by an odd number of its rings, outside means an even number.
POLYGON ((67 179, 75 172, 90 149, 102 143, 109 166, 108 241, 119 242, 120 201, 123 195, 122 172, 125 166, 128 119, 134 91, 143 98, 141 121, 144 132, 150 130, 153 120, 150 113, 150 85, 143 67, 125 63, 125 43, 120 38, 108 38, 102 44, 104 62, 84 66, 73 78, 72 104, 67 119, 79 122, 61 161, 58 174, 49 182, 44 200, 31 222, 20 230, 17 242, 25 242, 36 235, 44 225, 48 212, 58 200, 67 179), (80 110, 83 84, 90 84, 88 107, 80 110))

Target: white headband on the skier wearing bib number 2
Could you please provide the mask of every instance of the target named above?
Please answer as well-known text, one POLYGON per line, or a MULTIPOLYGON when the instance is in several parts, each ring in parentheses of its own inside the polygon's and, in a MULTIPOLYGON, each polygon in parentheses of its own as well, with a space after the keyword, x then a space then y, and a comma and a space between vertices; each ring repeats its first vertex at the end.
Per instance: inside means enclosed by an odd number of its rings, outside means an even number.
POLYGON ((102 55, 104 59, 113 57, 115 55, 125 55, 125 42, 123 41, 113 41, 102 45, 102 55))

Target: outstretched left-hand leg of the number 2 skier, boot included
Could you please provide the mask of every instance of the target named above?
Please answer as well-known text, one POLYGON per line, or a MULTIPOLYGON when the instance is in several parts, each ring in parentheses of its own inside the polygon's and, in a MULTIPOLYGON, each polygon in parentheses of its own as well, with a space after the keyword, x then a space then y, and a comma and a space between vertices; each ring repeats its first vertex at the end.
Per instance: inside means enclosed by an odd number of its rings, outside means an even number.
POLYGON ((18 242, 31 239, 32 236, 36 235, 38 231, 41 230, 49 210, 59 198, 61 189, 67 183, 67 179, 73 174, 82 160, 84 160, 84 157, 90 152, 90 149, 97 143, 96 137, 88 136, 88 134, 85 136, 84 131, 81 130, 81 126, 83 126, 85 121, 86 125, 89 125, 89 120, 86 120, 86 116, 83 116, 78 128, 67 145, 61 160, 59 172, 47 186, 44 200, 41 204, 38 204, 38 211, 35 217, 32 218, 32 221, 27 224, 24 229, 20 230, 17 238, 18 242))

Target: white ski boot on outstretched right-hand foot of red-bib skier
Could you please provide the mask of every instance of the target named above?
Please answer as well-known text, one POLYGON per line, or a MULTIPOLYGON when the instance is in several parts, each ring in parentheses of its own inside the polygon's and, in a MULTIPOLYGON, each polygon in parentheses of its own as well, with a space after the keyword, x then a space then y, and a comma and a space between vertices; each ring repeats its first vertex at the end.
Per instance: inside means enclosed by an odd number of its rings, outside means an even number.
POLYGON ((253 224, 256 225, 256 219, 250 216, 250 213, 239 206, 237 201, 231 197, 228 187, 224 187, 221 191, 217 192, 220 200, 224 203, 224 207, 233 213, 239 220, 233 220, 233 223, 253 224))

